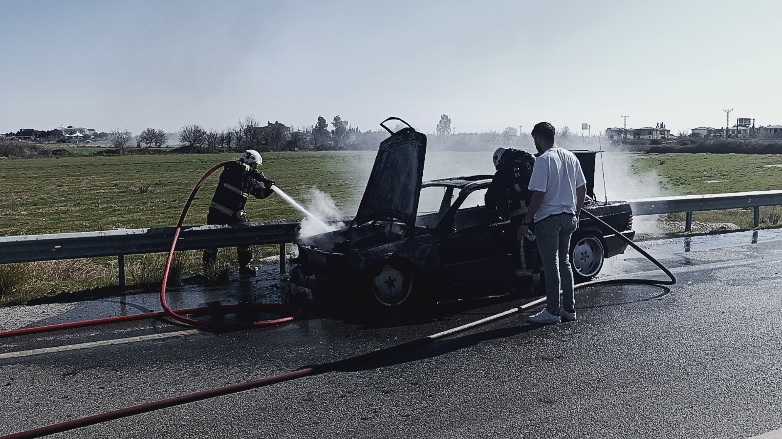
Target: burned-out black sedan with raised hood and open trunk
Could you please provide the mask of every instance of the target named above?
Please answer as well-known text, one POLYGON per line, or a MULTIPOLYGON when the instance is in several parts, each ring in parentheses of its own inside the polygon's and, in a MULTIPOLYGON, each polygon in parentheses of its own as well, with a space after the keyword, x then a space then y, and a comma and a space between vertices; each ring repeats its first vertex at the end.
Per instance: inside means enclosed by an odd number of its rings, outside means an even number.
MULTIPOLYGON (((493 176, 424 183, 425 152, 425 135, 409 126, 381 143, 349 226, 297 243, 289 284, 294 298, 394 309, 447 298, 457 289, 480 296, 493 287, 514 286, 515 230, 508 221, 491 221, 483 205, 493 176)), ((632 239, 630 205, 594 201, 595 152, 575 153, 590 195, 584 209, 632 239)), ((595 277, 604 259, 624 252, 626 245, 612 230, 583 217, 572 238, 576 279, 595 277)), ((533 270, 540 273, 540 265, 533 264, 533 270)))

